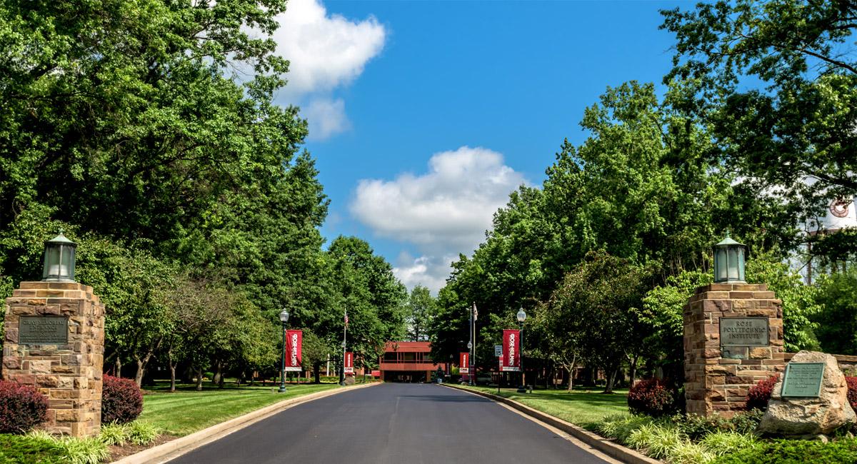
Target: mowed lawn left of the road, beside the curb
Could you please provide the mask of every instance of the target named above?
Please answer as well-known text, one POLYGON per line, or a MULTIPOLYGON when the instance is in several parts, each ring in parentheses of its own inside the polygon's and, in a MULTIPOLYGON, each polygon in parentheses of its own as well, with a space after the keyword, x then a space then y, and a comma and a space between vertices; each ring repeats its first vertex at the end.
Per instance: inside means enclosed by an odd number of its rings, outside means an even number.
POLYGON ((206 386, 204 390, 196 391, 193 385, 183 385, 181 390, 170 393, 159 385, 153 393, 143 396, 143 413, 139 419, 159 427, 166 434, 183 437, 296 396, 345 387, 339 384, 286 384, 286 393, 272 393, 271 388, 270 384, 223 390, 206 386))

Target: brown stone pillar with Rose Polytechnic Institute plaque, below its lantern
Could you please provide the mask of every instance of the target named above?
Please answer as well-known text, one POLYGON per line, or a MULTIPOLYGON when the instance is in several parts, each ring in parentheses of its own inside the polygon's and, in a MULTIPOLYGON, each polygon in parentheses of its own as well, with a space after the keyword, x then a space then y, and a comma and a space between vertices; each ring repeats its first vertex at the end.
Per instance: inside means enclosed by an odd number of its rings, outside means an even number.
POLYGON ((683 315, 688 413, 732 417, 746 407, 752 385, 784 369, 782 301, 766 284, 704 285, 687 301, 683 315), (730 342, 721 340, 722 318, 740 318, 723 325, 730 342), (765 322, 767 333, 760 329, 765 322))

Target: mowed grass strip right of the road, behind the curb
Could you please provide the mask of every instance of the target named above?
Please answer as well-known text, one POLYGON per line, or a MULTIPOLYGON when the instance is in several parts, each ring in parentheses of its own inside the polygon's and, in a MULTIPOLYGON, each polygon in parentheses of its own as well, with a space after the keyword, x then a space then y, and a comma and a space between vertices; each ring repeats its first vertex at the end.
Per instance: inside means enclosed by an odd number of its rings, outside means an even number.
MULTIPOLYGON (((497 388, 468 387, 497 395, 497 388)), ((601 390, 533 390, 532 393, 518 393, 516 389, 501 389, 500 396, 525 404, 533 409, 567 420, 574 425, 592 430, 596 422, 604 416, 628 412, 628 390, 614 390, 613 395, 605 395, 601 390)))

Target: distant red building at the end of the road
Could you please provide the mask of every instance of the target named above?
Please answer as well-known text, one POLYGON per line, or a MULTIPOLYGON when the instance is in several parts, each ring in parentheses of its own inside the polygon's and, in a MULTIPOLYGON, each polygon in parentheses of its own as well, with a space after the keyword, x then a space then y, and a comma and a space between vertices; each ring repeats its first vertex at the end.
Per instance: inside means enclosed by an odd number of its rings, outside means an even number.
POLYGON ((445 363, 431 360, 429 342, 387 342, 379 359, 384 382, 431 382, 437 367, 446 371, 445 363))

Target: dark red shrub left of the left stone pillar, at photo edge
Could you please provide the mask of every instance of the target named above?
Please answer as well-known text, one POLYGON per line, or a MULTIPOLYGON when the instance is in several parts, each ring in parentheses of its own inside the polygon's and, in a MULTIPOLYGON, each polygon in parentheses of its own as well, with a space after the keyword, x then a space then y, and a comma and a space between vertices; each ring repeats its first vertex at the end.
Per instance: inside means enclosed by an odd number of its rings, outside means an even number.
POLYGON ((47 396, 30 385, 0 380, 0 433, 21 434, 48 419, 47 396))

